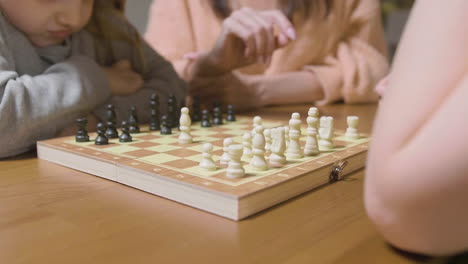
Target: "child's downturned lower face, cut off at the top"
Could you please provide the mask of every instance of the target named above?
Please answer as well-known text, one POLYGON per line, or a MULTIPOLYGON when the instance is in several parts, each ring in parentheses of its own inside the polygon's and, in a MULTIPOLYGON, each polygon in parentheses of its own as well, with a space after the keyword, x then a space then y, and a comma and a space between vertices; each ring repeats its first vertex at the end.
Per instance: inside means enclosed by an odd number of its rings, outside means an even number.
POLYGON ((38 47, 63 43, 88 23, 94 0, 0 0, 0 9, 38 47))

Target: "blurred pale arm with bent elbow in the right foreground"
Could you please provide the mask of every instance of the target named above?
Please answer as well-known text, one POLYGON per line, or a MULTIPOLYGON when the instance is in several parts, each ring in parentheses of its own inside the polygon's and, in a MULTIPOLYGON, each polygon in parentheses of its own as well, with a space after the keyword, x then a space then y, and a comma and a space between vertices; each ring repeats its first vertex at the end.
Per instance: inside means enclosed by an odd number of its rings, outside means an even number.
POLYGON ((416 1, 380 102, 365 203, 405 250, 468 250, 467 13, 466 0, 416 1))

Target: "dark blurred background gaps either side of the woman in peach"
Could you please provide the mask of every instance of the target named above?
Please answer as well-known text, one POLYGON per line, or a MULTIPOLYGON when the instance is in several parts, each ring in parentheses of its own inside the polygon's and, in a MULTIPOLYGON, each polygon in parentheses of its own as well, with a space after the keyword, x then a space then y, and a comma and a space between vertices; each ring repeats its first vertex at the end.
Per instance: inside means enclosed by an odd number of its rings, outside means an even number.
MULTIPOLYGON (((127 1, 127 16, 141 33, 144 33, 146 29, 151 2, 152 0, 127 1)), ((400 40, 413 3, 414 0, 381 0, 382 18, 391 57, 393 57, 395 48, 400 40)))

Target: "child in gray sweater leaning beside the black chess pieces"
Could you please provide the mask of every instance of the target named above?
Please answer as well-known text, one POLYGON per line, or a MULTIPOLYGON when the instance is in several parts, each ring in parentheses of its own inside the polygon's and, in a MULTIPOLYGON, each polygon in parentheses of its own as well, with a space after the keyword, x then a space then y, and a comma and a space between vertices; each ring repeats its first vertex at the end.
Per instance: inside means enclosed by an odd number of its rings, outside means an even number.
POLYGON ((125 118, 155 89, 162 102, 184 97, 184 83, 127 22, 123 4, 0 0, 0 158, 54 137, 79 116, 105 119, 107 103, 125 118))

